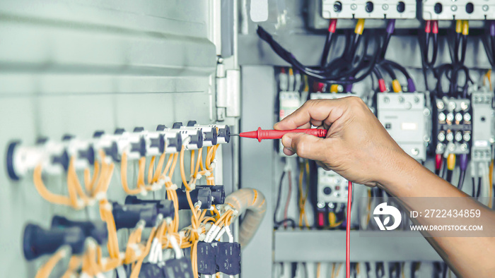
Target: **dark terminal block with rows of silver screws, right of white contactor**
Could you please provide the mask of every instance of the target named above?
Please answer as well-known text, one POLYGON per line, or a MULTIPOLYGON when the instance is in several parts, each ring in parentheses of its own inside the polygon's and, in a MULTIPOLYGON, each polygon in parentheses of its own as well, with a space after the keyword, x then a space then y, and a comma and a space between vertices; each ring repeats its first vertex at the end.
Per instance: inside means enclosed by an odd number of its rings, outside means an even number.
POLYGON ((470 99, 438 98, 434 106, 433 138, 436 153, 468 154, 472 142, 470 99))

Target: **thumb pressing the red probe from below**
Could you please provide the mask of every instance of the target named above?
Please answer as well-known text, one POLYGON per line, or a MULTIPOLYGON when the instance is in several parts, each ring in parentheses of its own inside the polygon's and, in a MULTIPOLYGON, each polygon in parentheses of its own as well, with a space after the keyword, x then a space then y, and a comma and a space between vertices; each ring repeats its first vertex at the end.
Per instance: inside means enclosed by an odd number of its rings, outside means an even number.
POLYGON ((282 145, 306 159, 325 160, 327 139, 306 133, 287 133, 282 137, 282 145))

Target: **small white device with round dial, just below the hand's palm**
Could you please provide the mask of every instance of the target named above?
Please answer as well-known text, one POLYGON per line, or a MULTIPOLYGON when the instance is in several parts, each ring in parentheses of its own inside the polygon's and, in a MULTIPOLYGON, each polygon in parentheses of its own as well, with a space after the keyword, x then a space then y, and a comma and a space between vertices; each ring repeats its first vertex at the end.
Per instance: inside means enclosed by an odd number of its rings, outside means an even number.
POLYGON ((347 202, 347 180, 334 171, 318 168, 318 206, 347 202))

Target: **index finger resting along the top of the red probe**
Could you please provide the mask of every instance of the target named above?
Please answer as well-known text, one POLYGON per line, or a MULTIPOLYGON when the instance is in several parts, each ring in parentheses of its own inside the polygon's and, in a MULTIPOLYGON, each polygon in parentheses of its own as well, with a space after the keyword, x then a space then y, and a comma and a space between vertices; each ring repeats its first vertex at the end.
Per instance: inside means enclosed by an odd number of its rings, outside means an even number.
POLYGON ((344 109, 342 108, 342 99, 310 99, 299 107, 292 114, 275 123, 274 129, 279 131, 287 131, 304 126, 311 121, 321 121, 326 126, 330 126, 334 121, 337 121, 344 109))

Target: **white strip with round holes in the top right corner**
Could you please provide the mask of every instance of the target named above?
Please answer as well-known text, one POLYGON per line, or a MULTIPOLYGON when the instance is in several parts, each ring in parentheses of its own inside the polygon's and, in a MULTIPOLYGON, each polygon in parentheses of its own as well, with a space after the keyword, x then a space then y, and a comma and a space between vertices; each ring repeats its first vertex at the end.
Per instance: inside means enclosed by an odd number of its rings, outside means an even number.
POLYGON ((487 0, 423 0, 424 20, 495 19, 495 2, 487 0))

